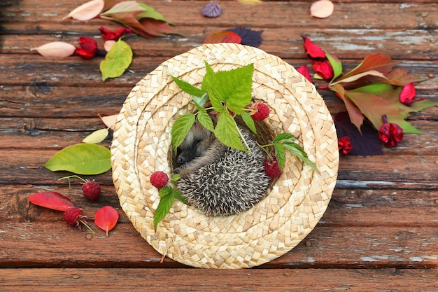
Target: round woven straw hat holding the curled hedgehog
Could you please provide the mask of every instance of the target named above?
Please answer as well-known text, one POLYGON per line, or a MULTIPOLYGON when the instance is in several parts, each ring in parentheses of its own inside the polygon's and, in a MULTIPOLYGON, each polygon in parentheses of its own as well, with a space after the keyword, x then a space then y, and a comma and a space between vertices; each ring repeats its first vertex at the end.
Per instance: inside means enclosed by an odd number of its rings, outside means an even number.
POLYGON ((136 84, 115 124, 111 162, 120 205, 154 249, 194 267, 243 268, 282 256, 313 230, 330 201, 339 153, 330 113, 306 78, 260 49, 220 43, 173 57, 136 84), (254 64, 253 95, 270 106, 268 123, 298 137, 320 173, 288 153, 283 174, 255 207, 208 217, 175 201, 155 232, 160 198, 149 177, 157 170, 171 175, 171 127, 178 116, 194 111, 190 95, 163 67, 200 87, 204 62, 214 71, 254 64))

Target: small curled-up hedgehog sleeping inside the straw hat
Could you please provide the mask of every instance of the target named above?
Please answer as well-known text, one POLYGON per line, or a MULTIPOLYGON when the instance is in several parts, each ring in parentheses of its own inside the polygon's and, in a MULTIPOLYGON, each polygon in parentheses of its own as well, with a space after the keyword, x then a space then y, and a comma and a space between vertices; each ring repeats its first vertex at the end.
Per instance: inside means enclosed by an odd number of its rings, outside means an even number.
POLYGON ((197 120, 178 147, 178 190, 206 216, 239 214, 267 193, 270 179, 264 172, 264 152, 247 130, 240 126, 239 130, 250 151, 225 146, 197 120))

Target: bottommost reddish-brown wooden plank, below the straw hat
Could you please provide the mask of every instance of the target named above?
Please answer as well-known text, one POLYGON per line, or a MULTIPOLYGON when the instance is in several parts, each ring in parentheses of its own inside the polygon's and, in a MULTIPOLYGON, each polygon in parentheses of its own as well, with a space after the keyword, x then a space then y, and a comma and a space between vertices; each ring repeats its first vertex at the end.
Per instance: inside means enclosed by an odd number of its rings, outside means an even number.
POLYGON ((3 269, 8 291, 436 291, 437 270, 3 269), (317 280, 318 279, 318 280, 317 280))

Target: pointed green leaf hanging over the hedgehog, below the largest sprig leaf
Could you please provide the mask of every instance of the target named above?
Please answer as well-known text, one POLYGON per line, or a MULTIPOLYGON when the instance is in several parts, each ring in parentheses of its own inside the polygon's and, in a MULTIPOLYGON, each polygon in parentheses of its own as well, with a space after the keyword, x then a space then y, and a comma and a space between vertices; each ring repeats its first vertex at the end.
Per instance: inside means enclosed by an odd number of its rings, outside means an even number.
POLYGON ((223 144, 231 148, 235 148, 241 151, 246 151, 240 140, 239 131, 237 130, 236 122, 233 117, 224 111, 220 113, 218 118, 218 124, 214 130, 216 138, 223 144))

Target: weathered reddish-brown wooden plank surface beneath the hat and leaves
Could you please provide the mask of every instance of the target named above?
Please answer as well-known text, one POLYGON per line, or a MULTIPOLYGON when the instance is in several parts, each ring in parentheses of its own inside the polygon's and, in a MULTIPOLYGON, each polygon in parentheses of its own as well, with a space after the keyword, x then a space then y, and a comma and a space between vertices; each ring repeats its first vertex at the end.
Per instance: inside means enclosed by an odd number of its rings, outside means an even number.
MULTIPOLYGON (((438 108, 411 116, 424 134, 407 134, 399 147, 374 157, 342 157, 337 187, 322 220, 295 249, 251 270, 195 270, 164 258, 129 222, 118 204, 111 173, 94 176, 97 202, 68 189, 43 164, 60 149, 103 127, 99 115, 118 113, 132 86, 169 57, 199 46, 212 32, 232 27, 263 30, 260 48, 295 67, 307 64, 300 35, 337 55, 346 68, 369 53, 428 80, 418 97, 438 102, 438 4, 435 0, 334 1, 325 20, 309 16, 312 1, 269 1, 242 6, 221 1, 220 18, 199 11, 208 1, 147 1, 184 36, 130 37, 130 71, 101 82, 101 59, 52 60, 29 48, 49 41, 97 37, 104 20, 62 20, 85 1, 2 1, 0 47, 0 291, 438 291, 438 108), (62 214, 35 207, 31 193, 68 195, 90 217, 118 209, 120 222, 105 237, 70 228, 62 214)), ((317 85, 321 83, 317 82, 317 85)), ((343 105, 320 90, 330 112, 343 105)), ((111 137, 104 145, 111 144, 111 137)))

